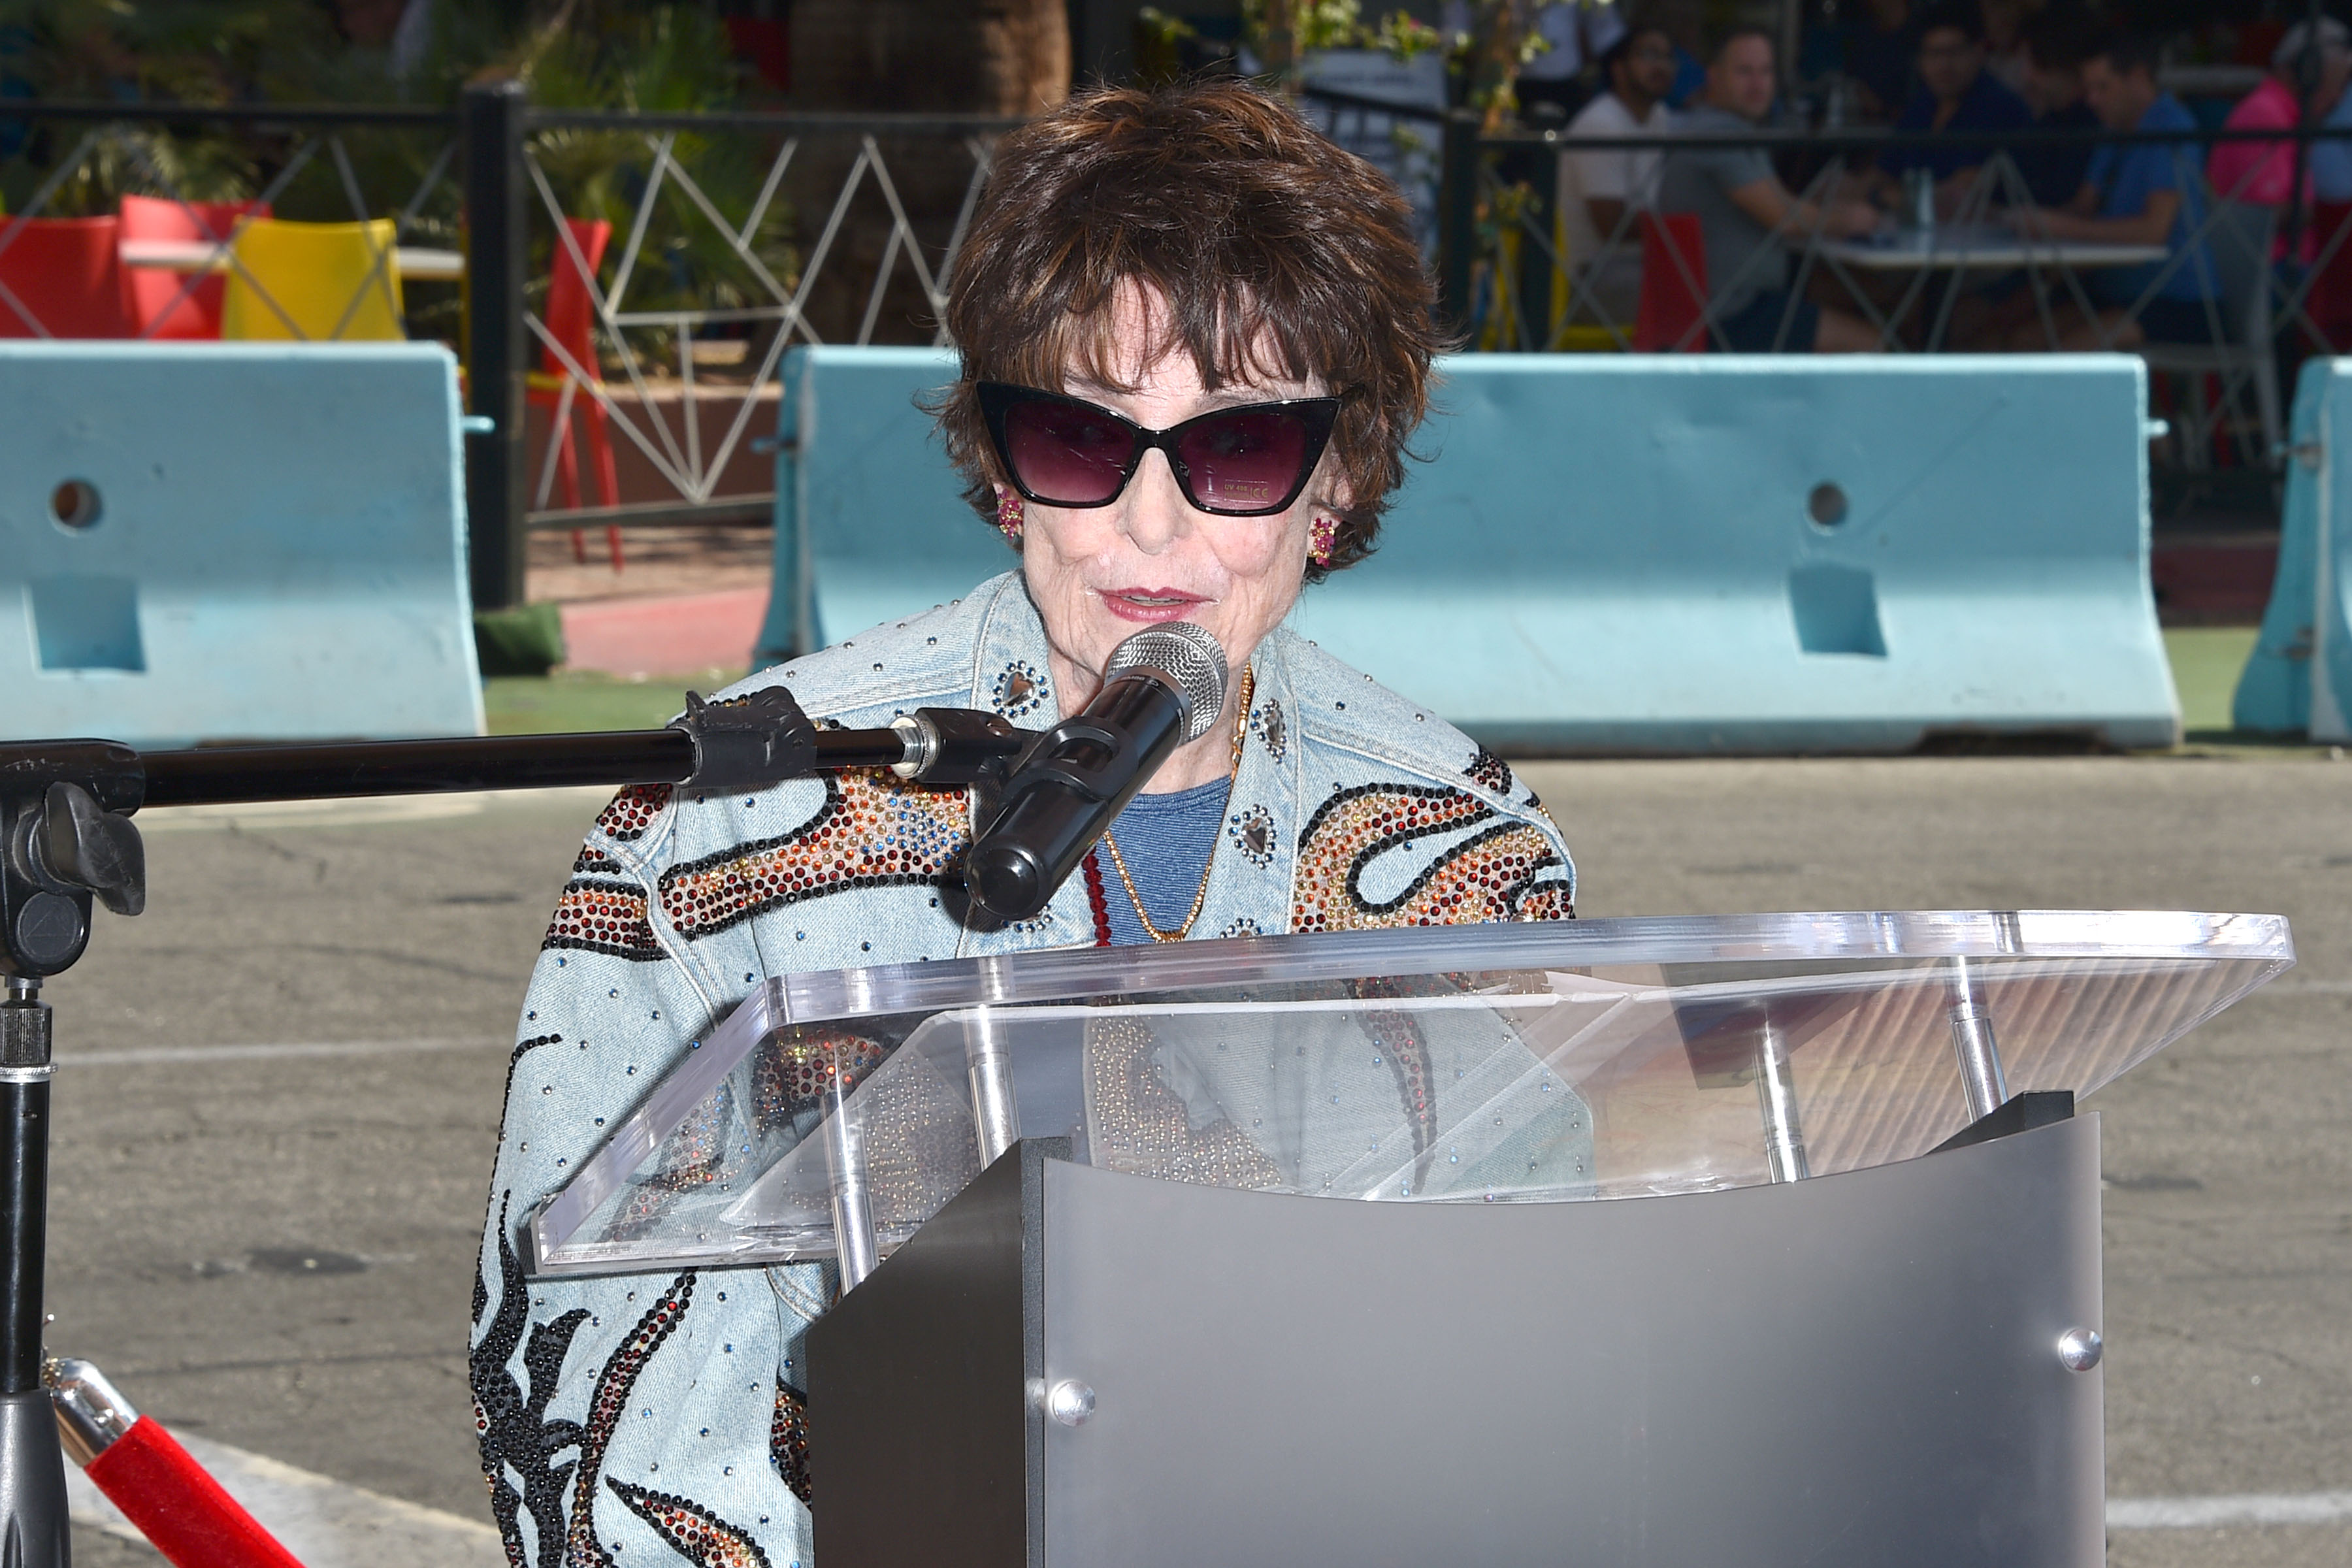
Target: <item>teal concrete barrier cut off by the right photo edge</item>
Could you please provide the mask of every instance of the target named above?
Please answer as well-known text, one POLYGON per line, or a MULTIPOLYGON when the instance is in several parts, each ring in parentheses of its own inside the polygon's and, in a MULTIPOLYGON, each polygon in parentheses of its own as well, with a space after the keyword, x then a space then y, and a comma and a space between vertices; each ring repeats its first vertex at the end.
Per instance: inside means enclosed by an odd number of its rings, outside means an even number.
POLYGON ((2230 722, 2265 733, 2345 741, 2352 693, 2352 616, 2345 607, 2345 541, 2336 503, 2352 480, 2352 360, 2307 360, 2288 421, 2286 505, 2279 571, 2263 632, 2237 677, 2230 722))

